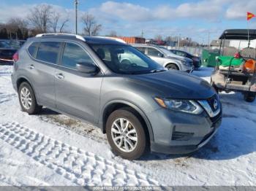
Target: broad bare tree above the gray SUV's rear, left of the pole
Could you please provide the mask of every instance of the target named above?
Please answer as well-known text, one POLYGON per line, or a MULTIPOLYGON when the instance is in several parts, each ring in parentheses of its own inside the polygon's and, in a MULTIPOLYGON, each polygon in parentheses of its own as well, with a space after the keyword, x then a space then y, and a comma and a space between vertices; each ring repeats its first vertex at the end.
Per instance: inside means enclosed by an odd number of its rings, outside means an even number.
POLYGON ((51 25, 53 7, 48 4, 40 4, 30 10, 28 21, 34 31, 46 33, 51 25))

